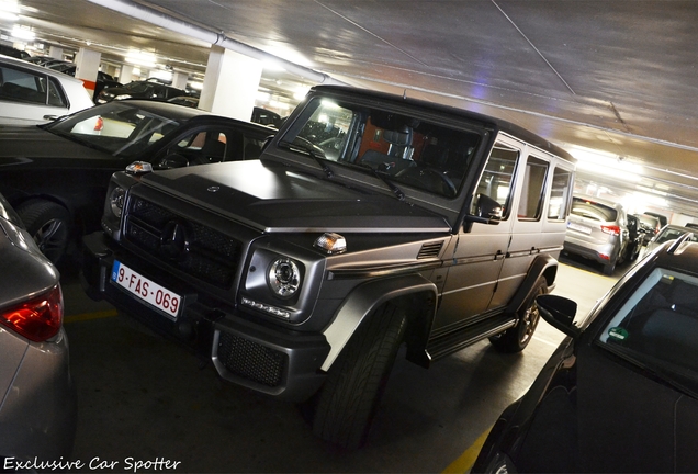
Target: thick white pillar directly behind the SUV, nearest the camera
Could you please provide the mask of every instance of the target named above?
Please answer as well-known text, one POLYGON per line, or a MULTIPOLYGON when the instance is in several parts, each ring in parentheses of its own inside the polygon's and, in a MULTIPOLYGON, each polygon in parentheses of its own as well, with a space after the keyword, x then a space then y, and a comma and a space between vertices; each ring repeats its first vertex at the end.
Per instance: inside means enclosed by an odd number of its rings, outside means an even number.
POLYGON ((221 46, 212 46, 199 109, 249 121, 261 74, 261 61, 221 46))

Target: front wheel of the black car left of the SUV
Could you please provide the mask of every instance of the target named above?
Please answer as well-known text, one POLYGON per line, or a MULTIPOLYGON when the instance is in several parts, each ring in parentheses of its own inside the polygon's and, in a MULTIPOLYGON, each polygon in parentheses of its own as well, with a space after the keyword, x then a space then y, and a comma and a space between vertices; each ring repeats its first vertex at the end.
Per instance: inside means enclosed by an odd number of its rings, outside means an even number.
POLYGON ((40 250, 57 264, 70 238, 68 211, 55 202, 33 200, 20 204, 16 212, 40 250))

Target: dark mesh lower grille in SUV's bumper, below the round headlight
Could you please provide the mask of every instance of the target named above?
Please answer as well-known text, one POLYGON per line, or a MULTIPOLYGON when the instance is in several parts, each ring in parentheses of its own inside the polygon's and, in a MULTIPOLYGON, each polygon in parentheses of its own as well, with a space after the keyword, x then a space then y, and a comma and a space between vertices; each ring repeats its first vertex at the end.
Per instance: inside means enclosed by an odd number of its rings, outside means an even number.
POLYGON ((249 339, 222 332, 218 360, 237 376, 277 387, 283 379, 288 356, 249 339))

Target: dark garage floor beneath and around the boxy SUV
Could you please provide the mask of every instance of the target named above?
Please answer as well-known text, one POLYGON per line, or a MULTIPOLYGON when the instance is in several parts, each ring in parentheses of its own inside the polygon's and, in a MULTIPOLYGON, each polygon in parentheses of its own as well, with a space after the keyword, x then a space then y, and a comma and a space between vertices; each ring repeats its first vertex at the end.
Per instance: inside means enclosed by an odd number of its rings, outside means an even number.
MULTIPOLYGON (((584 314, 618 275, 564 261, 554 293, 584 314)), ((429 370, 398 359, 367 445, 339 453, 296 406, 221 381, 205 361, 91 302, 74 271, 63 274, 78 388, 72 472, 465 472, 563 338, 541 321, 520 354, 482 341, 429 370)))

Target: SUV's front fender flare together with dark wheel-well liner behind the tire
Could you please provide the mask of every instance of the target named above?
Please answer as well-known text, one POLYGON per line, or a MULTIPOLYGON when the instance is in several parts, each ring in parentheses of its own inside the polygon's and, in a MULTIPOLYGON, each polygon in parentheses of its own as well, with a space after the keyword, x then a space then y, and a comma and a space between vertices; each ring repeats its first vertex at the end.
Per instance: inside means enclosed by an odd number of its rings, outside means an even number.
POLYGON ((436 285, 420 274, 371 280, 357 286, 341 303, 333 321, 324 330, 330 351, 322 369, 327 371, 342 351, 361 321, 383 303, 391 302, 408 317, 408 345, 426 347, 437 306, 436 285), (426 317, 417 317, 424 316, 426 317), (420 343, 421 342, 421 343, 420 343))

